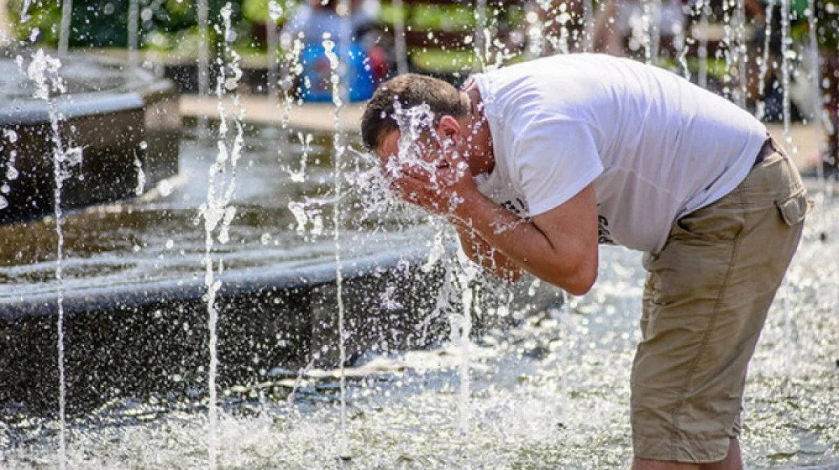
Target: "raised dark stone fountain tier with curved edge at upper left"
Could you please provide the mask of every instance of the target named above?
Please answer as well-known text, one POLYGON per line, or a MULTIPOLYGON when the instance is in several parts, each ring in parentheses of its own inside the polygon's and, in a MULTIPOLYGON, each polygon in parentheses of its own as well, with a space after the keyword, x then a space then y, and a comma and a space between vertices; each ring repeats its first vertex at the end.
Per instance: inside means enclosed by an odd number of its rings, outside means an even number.
MULTIPOLYGON (((65 147, 83 149, 81 165, 71 168, 71 176, 63 184, 63 209, 133 197, 138 187, 150 189, 161 179, 175 176, 180 137, 175 86, 140 68, 122 70, 123 65, 87 57, 64 59, 83 61, 94 73, 101 69, 109 78, 116 75, 114 69, 118 67, 121 75, 102 80, 107 87, 92 90, 84 88, 86 78, 62 77, 69 90, 81 92, 55 97, 62 116, 60 138, 65 147), (76 85, 73 80, 82 83, 76 85), (143 186, 137 163, 142 168, 143 186)), ((3 70, 13 70, 8 66, 10 58, 0 54, 0 61, 7 63, 3 70)), ((25 82, 27 77, 20 74, 18 80, 25 82)), ((3 197, 8 207, 0 209, 0 224, 55 212, 55 142, 50 106, 24 94, 31 91, 31 86, 24 83, 17 96, 0 97, 0 172, 6 174, 13 152, 13 166, 19 172, 18 178, 7 182, 10 191, 3 197), (3 137, 6 131, 17 134, 17 141, 3 137)))

